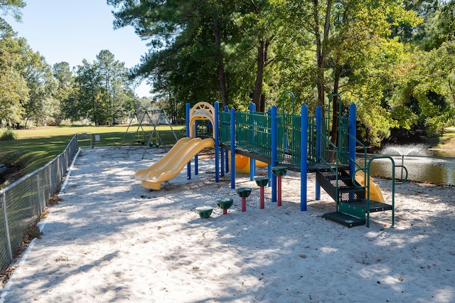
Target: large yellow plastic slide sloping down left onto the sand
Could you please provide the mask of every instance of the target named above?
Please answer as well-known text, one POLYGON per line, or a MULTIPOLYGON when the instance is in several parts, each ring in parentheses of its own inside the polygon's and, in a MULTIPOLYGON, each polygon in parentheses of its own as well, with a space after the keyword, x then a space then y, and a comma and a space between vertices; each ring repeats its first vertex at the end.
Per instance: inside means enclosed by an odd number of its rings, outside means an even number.
POLYGON ((134 179, 142 181, 143 187, 158 191, 161 189, 161 182, 176 177, 193 156, 206 147, 214 146, 215 141, 212 138, 182 138, 155 164, 137 170, 134 179))

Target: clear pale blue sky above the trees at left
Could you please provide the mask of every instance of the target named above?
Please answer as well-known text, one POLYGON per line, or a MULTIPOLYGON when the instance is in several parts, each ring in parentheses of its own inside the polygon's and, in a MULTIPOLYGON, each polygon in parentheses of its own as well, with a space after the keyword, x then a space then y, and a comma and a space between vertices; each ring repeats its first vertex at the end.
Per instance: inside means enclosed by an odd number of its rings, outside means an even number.
MULTIPOLYGON (((149 49, 131 26, 114 31, 114 7, 106 0, 26 0, 26 4, 21 23, 8 17, 6 21, 50 65, 64 61, 75 67, 82 59, 92 63, 101 50, 109 50, 115 60, 132 68, 149 49)), ((150 88, 144 81, 136 93, 149 97, 150 88)))

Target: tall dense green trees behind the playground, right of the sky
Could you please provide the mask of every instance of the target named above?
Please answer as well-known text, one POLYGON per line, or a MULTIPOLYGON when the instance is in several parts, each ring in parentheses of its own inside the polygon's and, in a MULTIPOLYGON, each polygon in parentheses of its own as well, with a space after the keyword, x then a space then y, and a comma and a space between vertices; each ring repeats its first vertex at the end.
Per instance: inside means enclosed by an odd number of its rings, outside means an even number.
MULTIPOLYGON (((169 100, 220 100, 240 110, 254 102, 265 110, 291 90, 297 105, 326 108, 328 96, 336 94, 358 105, 360 134, 375 145, 390 129, 439 132, 453 124, 433 119, 441 110, 451 117, 454 108, 454 65, 446 60, 454 38, 453 1, 107 3, 116 28, 133 26, 150 43, 134 75, 169 100)), ((331 102, 338 108, 338 97, 331 102)), ((337 115, 333 111, 333 138, 337 115)))

